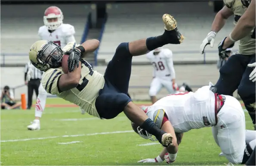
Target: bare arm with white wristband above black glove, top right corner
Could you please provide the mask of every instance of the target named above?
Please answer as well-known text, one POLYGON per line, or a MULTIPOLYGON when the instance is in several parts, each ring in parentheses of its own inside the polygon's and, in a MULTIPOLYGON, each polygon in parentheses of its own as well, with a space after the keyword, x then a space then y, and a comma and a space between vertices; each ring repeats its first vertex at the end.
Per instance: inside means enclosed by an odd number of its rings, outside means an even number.
POLYGON ((241 16, 241 18, 239 18, 233 31, 227 37, 225 44, 223 45, 224 47, 225 45, 229 46, 234 42, 243 39, 245 36, 251 33, 251 31, 255 28, 256 24, 255 12, 255 0, 252 0, 246 12, 241 16))

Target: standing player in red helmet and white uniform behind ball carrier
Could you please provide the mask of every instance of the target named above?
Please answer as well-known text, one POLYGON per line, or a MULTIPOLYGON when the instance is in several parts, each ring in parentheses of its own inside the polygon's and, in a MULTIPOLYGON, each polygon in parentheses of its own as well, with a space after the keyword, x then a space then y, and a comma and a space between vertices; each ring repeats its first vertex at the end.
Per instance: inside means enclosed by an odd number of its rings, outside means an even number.
MULTIPOLYGON (((75 30, 74 26, 70 24, 63 24, 63 14, 61 9, 56 6, 48 7, 43 16, 44 26, 38 30, 38 36, 40 40, 48 40, 58 44, 60 47, 64 47, 69 42, 76 42, 74 38, 75 30)), ((34 66, 33 66, 34 67, 34 66)), ((37 103, 35 107, 35 119, 28 125, 28 130, 39 130, 40 121, 43 110, 45 108, 47 98, 47 92, 43 89, 42 84, 39 86, 39 95, 37 97, 37 103)), ((81 109, 81 113, 85 111, 81 109)))

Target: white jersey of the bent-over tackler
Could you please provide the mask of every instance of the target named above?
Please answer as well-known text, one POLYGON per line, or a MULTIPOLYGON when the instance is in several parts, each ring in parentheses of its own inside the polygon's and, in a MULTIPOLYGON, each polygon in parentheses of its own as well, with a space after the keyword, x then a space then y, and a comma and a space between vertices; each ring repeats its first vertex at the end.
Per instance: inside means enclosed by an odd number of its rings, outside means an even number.
POLYGON ((179 93, 161 98, 148 107, 147 115, 158 127, 164 113, 175 132, 184 133, 191 129, 211 127, 215 121, 215 94, 210 86, 203 86, 196 92, 179 93))

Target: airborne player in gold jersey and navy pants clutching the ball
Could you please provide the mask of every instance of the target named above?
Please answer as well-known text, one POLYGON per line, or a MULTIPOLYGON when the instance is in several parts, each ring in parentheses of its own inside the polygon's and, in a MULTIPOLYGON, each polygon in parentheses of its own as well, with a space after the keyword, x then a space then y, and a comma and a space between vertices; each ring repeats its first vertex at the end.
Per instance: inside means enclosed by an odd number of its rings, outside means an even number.
POLYGON ((82 59, 99 47, 96 39, 81 45, 68 43, 63 49, 53 42, 40 40, 31 46, 29 59, 36 68, 45 71, 41 82, 48 93, 77 104, 99 118, 112 119, 124 112, 132 122, 156 136, 163 146, 169 146, 172 134, 160 130, 127 95, 133 56, 165 44, 180 44, 184 39, 171 15, 163 15, 163 22, 163 35, 119 44, 104 75, 93 71, 82 59), (64 54, 69 55, 67 74, 61 67, 64 54))

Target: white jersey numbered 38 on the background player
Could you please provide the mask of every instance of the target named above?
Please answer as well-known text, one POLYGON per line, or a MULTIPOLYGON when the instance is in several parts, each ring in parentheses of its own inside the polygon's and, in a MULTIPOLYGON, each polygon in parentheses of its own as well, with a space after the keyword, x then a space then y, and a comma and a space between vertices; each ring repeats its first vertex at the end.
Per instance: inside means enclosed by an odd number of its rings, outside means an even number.
POLYGON ((175 78, 173 53, 171 50, 163 48, 157 55, 154 55, 154 50, 152 50, 146 56, 154 67, 153 77, 175 78))

